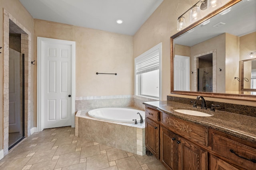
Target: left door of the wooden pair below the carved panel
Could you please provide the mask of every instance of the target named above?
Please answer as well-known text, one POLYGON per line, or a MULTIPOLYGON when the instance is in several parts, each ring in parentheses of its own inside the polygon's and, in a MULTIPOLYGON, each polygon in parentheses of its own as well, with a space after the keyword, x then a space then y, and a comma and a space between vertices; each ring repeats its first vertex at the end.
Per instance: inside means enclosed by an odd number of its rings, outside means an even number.
POLYGON ((169 170, 178 168, 178 135, 160 127, 160 160, 169 170))

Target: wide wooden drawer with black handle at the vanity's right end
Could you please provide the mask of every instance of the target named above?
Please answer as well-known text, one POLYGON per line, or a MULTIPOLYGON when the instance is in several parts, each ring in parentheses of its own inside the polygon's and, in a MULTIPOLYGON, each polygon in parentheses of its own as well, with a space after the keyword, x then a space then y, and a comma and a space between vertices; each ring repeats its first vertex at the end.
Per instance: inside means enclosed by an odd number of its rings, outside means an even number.
MULTIPOLYGON (((256 145, 243 139, 209 129, 211 153, 234 169, 256 170, 256 145)), ((218 162, 218 161, 217 161, 218 162)), ((211 164, 214 170, 214 165, 211 164)), ((224 168, 223 168, 224 169, 224 168)))

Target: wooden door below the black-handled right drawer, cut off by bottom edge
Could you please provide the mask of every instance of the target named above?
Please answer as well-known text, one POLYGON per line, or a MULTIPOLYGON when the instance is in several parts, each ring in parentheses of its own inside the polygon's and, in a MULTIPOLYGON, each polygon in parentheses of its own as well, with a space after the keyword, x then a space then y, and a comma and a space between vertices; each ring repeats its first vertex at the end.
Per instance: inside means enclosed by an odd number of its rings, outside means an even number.
POLYGON ((210 170, 238 170, 234 166, 231 166, 227 162, 210 155, 210 170))

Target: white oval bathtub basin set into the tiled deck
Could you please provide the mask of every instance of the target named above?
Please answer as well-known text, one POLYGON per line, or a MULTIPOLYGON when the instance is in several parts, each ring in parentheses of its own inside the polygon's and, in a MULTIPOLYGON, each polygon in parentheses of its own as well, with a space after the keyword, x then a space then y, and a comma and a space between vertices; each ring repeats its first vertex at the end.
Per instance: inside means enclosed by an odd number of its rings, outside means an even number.
POLYGON ((106 107, 88 111, 88 115, 95 119, 121 123, 134 123, 135 121, 133 121, 133 119, 137 119, 139 124, 140 115, 137 113, 140 113, 143 118, 143 122, 145 122, 145 111, 137 109, 106 107))

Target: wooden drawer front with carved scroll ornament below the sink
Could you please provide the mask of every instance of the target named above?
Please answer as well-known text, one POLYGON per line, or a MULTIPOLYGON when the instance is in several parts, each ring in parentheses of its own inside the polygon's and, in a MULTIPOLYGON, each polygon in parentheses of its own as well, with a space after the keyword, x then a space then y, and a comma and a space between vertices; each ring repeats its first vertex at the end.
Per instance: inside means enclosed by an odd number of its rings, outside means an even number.
POLYGON ((188 121, 183 121, 176 117, 162 113, 161 122, 170 131, 194 141, 198 144, 208 146, 208 129, 207 127, 196 125, 188 121))

